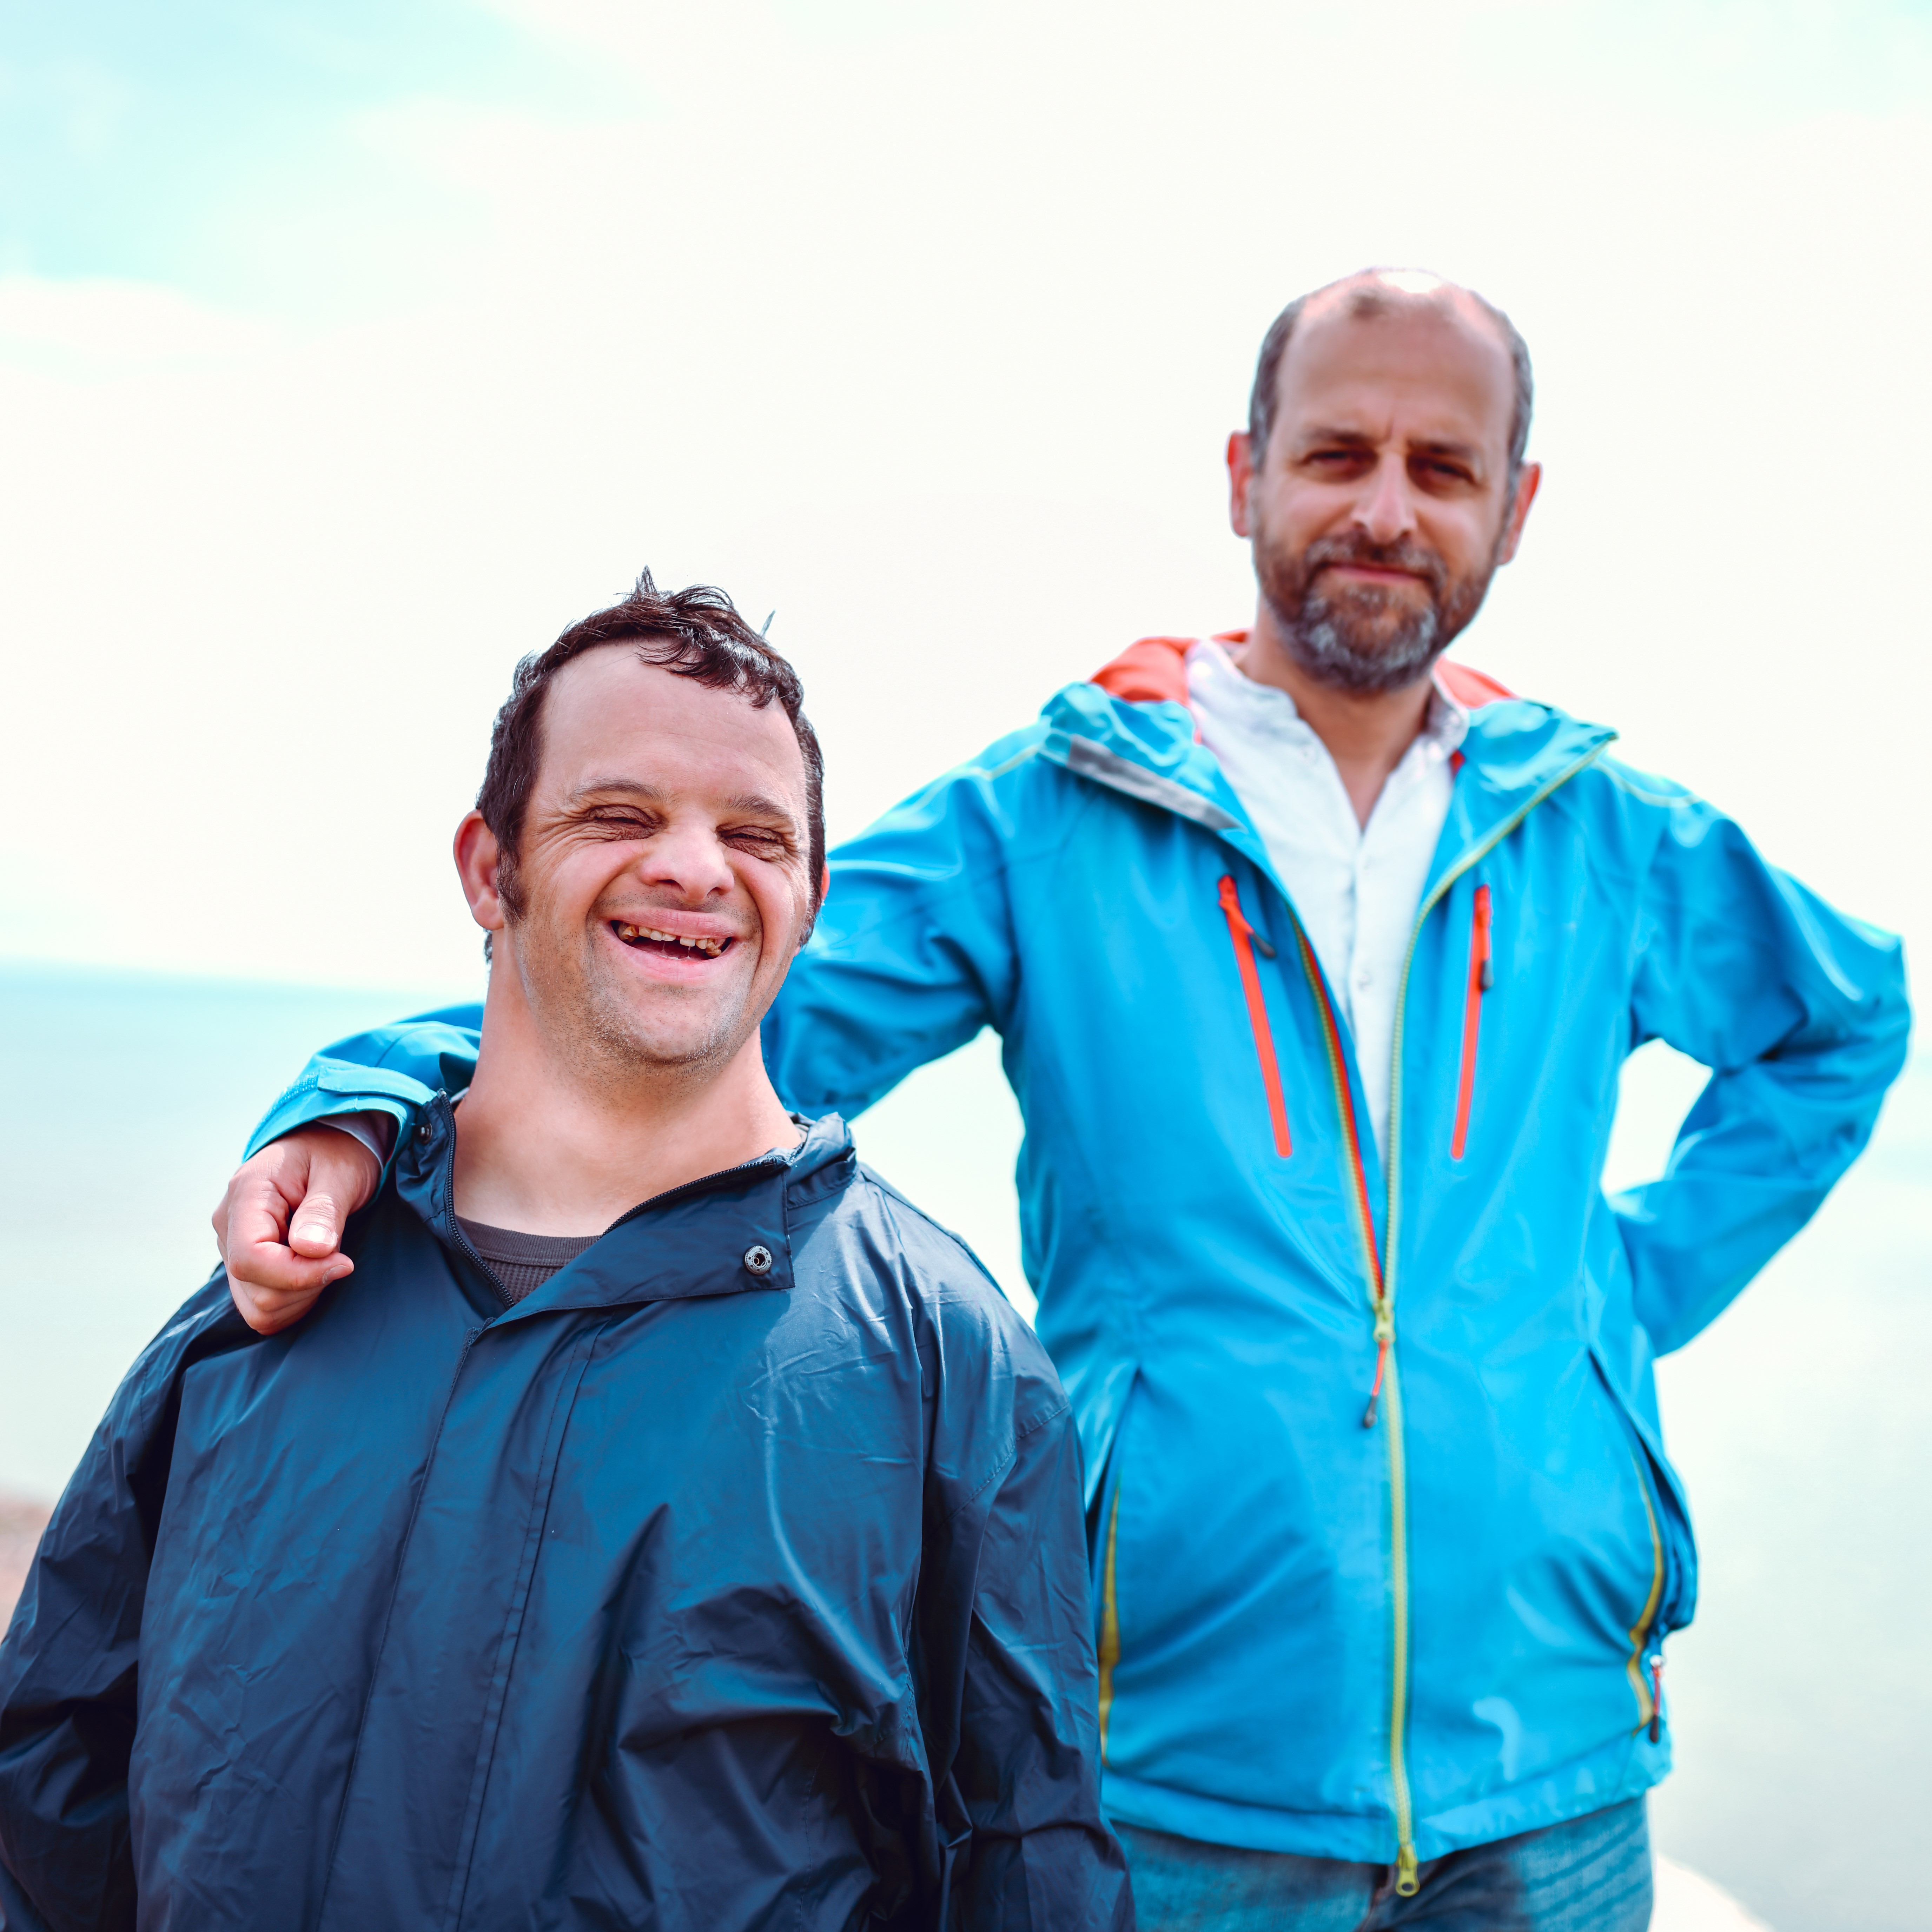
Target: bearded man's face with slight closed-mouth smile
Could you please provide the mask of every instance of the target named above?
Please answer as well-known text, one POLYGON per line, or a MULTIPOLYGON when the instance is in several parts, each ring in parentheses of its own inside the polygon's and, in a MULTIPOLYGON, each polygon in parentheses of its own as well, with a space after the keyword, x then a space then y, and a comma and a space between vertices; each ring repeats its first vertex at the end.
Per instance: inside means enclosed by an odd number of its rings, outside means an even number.
POLYGON ((1476 614, 1534 495, 1534 466, 1509 487, 1509 352, 1455 301, 1352 317, 1329 299, 1289 338, 1275 396, 1267 448, 1229 446, 1262 599, 1320 682, 1412 684, 1476 614))

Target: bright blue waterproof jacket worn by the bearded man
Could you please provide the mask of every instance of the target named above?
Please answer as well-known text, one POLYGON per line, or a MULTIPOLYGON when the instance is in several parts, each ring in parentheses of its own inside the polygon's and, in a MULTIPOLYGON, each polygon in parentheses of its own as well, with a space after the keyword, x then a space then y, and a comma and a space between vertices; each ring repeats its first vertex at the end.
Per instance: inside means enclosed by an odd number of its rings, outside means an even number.
MULTIPOLYGON (((1397 1685, 1424 1861, 1669 1766, 1642 1675, 1690 1619, 1696 1553, 1652 1358, 1859 1153, 1909 1012, 1895 939, 1609 759, 1611 736, 1524 699, 1472 717, 1401 1007, 1393 1200, 1347 1028, 1331 1063, 1320 968, 1182 705, 1072 686, 833 854, 767 1063, 790 1105, 852 1115, 983 1026, 1003 1037, 1097 1598, 1111 1530, 1105 1797, 1130 1824, 1391 1862, 1397 1685), (1271 949, 1287 1157, 1221 879, 1271 949), (1453 1159, 1478 887, 1492 985, 1453 1159), (1617 1072, 1652 1037, 1714 1078, 1667 1177, 1605 1200, 1617 1072), (1395 1298, 1401 1549, 1387 1391, 1362 1426, 1370 1260, 1337 1078, 1395 1298)), ((381 1055, 365 1036, 311 1063, 255 1144, 346 1105, 408 1119, 381 1055)))

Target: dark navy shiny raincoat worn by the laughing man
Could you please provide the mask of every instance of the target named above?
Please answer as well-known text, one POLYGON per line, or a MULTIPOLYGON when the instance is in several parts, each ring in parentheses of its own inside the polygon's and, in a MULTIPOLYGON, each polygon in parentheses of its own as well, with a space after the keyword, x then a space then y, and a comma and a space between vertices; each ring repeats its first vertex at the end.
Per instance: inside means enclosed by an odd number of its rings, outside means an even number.
POLYGON ((972 1256, 821 1121, 504 1312, 452 1150, 116 1395, 0 1646, 0 1924, 1130 1926, 1078 1441, 972 1256))

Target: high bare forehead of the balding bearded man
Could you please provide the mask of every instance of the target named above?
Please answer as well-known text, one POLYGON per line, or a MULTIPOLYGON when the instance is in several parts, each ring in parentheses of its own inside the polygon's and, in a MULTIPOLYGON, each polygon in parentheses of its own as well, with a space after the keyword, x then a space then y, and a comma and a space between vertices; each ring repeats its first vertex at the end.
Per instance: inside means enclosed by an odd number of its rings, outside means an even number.
POLYGON ((1507 448, 1517 377, 1495 325, 1455 299, 1354 315, 1310 305, 1275 375, 1275 419, 1507 448))

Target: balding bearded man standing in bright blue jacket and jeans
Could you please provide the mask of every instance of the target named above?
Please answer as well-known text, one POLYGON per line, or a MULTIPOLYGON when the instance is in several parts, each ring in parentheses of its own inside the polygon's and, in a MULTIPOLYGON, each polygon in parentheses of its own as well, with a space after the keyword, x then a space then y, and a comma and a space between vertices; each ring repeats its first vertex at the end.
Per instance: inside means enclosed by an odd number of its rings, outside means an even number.
MULTIPOLYGON (((1648 1922, 1696 1596, 1652 1360, 1804 1225, 1903 1063, 1893 939, 1443 661, 1536 500, 1528 427, 1482 298, 1293 303, 1229 442, 1252 628, 1144 639, 835 852, 765 1022, 779 1092, 848 1115, 1003 1036, 1144 1926, 1648 1922), (1652 1037, 1710 1084, 1609 1200, 1652 1037)), ((257 1144, 305 1130, 218 1215, 261 1325, 377 1169, 305 1122, 415 1119, 361 1059, 270 1115, 257 1144)))

